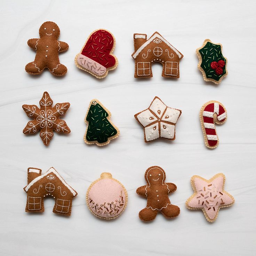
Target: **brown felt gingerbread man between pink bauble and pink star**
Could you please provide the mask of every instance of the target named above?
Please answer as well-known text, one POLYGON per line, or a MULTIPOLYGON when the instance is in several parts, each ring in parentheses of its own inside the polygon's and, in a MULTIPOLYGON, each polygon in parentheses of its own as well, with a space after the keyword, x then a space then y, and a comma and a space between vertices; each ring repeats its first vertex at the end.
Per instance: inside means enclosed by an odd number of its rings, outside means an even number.
POLYGON ((152 221, 159 211, 166 218, 179 215, 179 207, 172 205, 168 194, 174 192, 177 186, 165 183, 165 171, 159 166, 151 166, 145 172, 147 185, 138 187, 136 193, 147 198, 147 206, 139 212, 142 221, 152 221))

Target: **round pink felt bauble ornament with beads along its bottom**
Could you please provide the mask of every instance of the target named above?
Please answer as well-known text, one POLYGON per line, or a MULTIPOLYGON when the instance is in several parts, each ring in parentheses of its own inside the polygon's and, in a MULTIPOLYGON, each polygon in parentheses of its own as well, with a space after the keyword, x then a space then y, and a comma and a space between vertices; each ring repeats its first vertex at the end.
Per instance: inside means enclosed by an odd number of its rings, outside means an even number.
POLYGON ((112 178, 111 173, 102 173, 89 186, 86 203, 91 213, 102 219, 114 219, 126 208, 128 195, 125 187, 112 178))

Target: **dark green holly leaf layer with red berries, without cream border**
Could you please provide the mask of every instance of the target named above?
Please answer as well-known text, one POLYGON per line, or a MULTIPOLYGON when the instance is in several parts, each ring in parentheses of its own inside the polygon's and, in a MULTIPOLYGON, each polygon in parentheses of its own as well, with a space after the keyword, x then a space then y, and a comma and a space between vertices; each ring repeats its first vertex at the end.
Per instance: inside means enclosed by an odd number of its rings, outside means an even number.
POLYGON ((199 53, 202 57, 201 67, 205 71, 207 78, 218 81, 226 74, 226 59, 222 55, 221 46, 207 42, 199 53))

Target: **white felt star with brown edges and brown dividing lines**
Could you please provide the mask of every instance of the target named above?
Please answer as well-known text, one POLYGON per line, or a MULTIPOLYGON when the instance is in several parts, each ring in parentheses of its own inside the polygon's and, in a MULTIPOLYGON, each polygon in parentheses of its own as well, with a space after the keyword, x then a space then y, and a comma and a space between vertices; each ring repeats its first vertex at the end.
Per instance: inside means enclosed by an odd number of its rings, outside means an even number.
POLYGON ((181 110, 167 107, 160 98, 154 97, 148 109, 134 115, 144 127, 145 142, 159 137, 175 139, 175 124, 181 110))

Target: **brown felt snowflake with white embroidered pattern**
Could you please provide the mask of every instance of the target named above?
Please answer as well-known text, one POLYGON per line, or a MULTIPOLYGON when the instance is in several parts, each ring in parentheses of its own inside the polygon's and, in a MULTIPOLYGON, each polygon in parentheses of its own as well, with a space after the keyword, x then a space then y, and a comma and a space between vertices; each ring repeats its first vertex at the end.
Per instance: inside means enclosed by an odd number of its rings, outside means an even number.
POLYGON ((70 133, 70 129, 64 120, 59 119, 69 109, 70 104, 57 103, 54 107, 53 100, 45 91, 40 102, 40 109, 36 105, 23 105, 22 108, 28 117, 33 118, 29 121, 23 130, 24 134, 35 134, 40 131, 40 138, 43 144, 49 145, 53 138, 53 130, 57 133, 70 133))

